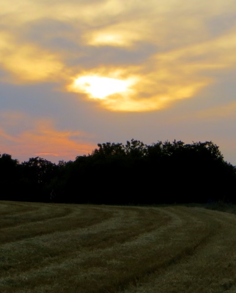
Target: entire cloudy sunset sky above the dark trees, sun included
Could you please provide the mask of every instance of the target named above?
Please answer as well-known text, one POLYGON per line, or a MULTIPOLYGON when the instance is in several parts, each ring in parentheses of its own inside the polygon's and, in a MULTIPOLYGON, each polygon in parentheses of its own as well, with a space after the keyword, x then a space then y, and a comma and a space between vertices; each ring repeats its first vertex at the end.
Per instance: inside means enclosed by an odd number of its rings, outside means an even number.
POLYGON ((132 138, 212 141, 236 165, 236 0, 1 0, 0 154, 132 138))

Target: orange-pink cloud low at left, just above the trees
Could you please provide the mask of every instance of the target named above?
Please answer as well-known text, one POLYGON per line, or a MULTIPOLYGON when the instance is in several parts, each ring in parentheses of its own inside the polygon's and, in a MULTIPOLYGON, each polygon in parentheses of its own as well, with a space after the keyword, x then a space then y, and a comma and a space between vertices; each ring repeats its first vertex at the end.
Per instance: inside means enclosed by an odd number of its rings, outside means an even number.
POLYGON ((50 119, 35 121, 25 114, 8 112, 0 115, 0 121, 1 153, 13 157, 17 153, 16 159, 22 161, 35 156, 43 156, 52 162, 62 159, 69 161, 78 155, 91 153, 96 147, 91 142, 91 135, 81 131, 58 130, 50 119), (24 129, 18 129, 22 120, 28 123, 24 129))

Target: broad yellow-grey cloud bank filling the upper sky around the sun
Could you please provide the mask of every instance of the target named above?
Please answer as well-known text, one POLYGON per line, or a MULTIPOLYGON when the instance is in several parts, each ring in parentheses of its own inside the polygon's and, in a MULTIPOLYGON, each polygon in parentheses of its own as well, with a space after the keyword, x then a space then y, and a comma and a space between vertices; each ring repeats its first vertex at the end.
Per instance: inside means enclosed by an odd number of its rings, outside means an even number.
POLYGON ((60 0, 48 9, 46 1, 13 0, 1 9, 0 63, 7 82, 60 81, 67 89, 84 74, 112 79, 119 72, 119 80, 136 83, 94 99, 97 105, 126 112, 168 108, 216 82, 216 72, 235 68, 235 4, 60 0), (227 20, 223 30, 212 29, 227 20), (132 53, 136 58, 127 60, 132 53))

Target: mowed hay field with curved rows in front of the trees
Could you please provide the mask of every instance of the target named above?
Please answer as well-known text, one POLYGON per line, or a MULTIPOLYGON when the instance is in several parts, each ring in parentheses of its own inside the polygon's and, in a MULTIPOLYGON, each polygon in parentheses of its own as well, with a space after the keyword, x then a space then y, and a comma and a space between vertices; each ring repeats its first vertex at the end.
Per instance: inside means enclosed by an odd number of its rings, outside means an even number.
POLYGON ((236 293, 236 215, 0 201, 0 293, 236 293))

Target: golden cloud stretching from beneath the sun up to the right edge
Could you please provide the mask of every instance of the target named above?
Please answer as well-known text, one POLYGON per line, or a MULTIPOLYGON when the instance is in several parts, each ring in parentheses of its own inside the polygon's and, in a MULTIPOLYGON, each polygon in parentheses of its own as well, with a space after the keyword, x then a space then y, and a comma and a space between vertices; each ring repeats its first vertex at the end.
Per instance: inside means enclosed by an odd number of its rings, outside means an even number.
MULTIPOLYGON (((194 97, 199 90, 214 83, 216 70, 220 72, 235 66, 236 35, 232 29, 210 41, 154 54, 137 66, 120 66, 120 76, 126 79, 135 76, 136 82, 129 90, 114 92, 97 102, 112 111, 163 109, 177 100, 194 97)), ((86 75, 100 72, 101 78, 108 78, 112 70, 115 70, 112 66, 101 66, 91 69, 86 75)), ((118 76, 118 79, 122 78, 118 76)))

